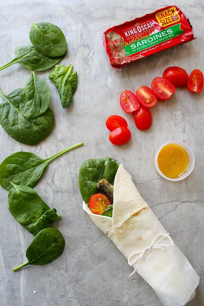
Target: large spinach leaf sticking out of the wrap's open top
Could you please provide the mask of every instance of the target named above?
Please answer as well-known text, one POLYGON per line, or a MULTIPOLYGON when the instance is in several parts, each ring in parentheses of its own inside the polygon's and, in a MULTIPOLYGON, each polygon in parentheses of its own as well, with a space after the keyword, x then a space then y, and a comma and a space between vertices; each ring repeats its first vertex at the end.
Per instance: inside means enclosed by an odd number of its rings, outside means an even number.
POLYGON ((81 196, 85 203, 88 203, 93 194, 100 192, 97 186, 98 181, 105 178, 113 185, 118 169, 115 159, 87 159, 80 167, 78 182, 81 196))

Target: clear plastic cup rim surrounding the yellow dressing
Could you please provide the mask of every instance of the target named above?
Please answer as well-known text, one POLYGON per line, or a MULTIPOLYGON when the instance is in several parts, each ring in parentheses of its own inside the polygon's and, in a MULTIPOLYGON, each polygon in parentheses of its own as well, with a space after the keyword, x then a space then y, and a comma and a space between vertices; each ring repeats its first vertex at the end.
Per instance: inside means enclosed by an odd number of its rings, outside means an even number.
POLYGON ((159 175, 161 175, 162 177, 164 177, 166 180, 169 180, 169 181, 181 181, 181 180, 183 180, 185 177, 187 177, 193 171, 194 165, 195 165, 195 157, 194 157, 193 151, 191 150, 190 147, 188 147, 186 144, 184 144, 183 142, 180 142, 180 141, 169 141, 169 142, 166 142, 165 144, 162 144, 158 148, 157 152, 154 155, 154 168, 155 168, 155 170, 157 171, 157 173, 159 175), (175 177, 175 178, 165 176, 165 174, 163 174, 161 172, 161 170, 159 169, 159 166, 158 166, 159 152, 161 151, 161 149, 163 147, 165 147, 169 144, 172 144, 172 145, 175 144, 175 145, 183 148, 184 151, 186 152, 187 156, 188 156, 188 164, 187 164, 186 169, 178 177, 175 177))

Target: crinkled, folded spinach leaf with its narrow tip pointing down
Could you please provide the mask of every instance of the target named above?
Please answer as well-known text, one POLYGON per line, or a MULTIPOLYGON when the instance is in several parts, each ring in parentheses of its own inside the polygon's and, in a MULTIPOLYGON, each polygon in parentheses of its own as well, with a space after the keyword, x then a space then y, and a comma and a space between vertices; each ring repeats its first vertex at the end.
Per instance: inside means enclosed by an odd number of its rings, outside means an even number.
POLYGON ((49 79, 57 87, 63 108, 72 102, 72 96, 76 91, 77 72, 72 71, 72 67, 73 65, 56 65, 49 74, 49 79))

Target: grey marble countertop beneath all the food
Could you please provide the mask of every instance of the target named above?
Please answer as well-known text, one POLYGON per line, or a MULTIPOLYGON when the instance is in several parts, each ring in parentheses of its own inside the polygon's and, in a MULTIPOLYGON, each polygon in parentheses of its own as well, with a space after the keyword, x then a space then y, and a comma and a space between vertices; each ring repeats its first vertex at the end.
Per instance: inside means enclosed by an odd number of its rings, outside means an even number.
MULTIPOLYGON (((83 147, 50 164, 35 190, 62 218, 54 226, 65 237, 65 250, 54 262, 28 266, 13 272, 26 261, 25 252, 33 236, 8 211, 8 192, 1 189, 0 214, 0 304, 20 306, 161 306, 153 289, 138 275, 125 257, 91 221, 82 209, 78 171, 85 159, 106 156, 124 164, 139 192, 171 234, 180 250, 200 276, 196 296, 188 305, 204 305, 204 91, 190 93, 178 88, 169 101, 158 102, 151 110, 152 127, 136 129, 133 117, 119 104, 122 91, 135 91, 161 76, 166 67, 180 66, 190 73, 204 72, 204 7, 201 0, 180 0, 158 4, 153 0, 58 0, 3 1, 0 18, 0 66, 14 58, 14 49, 27 45, 31 22, 49 21, 65 34, 68 54, 61 62, 72 64, 78 73, 73 103, 62 109, 57 89, 48 79, 50 70, 36 72, 51 89, 54 111, 53 132, 35 146, 20 144, 0 126, 0 162, 17 151, 47 158, 83 142, 83 147), (116 71, 109 65, 102 34, 113 25, 176 4, 189 17, 196 40, 142 59, 116 71), (132 132, 128 144, 114 146, 109 140, 106 119, 123 116, 132 132), (188 144, 195 154, 195 168, 180 182, 166 181, 153 166, 157 148, 166 141, 188 144), (35 293, 34 293, 35 292, 35 293)), ((30 71, 15 64, 0 71, 0 88, 6 94, 23 87, 30 71)))

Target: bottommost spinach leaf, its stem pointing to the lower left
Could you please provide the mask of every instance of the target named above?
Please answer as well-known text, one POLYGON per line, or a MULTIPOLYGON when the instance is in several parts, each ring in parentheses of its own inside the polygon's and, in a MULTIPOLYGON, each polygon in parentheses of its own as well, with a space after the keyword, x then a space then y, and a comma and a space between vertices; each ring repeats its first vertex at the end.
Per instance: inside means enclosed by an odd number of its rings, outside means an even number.
POLYGON ((33 239, 26 251, 28 262, 14 268, 17 271, 27 265, 44 265, 57 259, 65 248, 65 240, 59 230, 47 227, 33 239))

